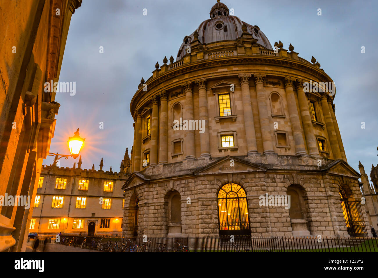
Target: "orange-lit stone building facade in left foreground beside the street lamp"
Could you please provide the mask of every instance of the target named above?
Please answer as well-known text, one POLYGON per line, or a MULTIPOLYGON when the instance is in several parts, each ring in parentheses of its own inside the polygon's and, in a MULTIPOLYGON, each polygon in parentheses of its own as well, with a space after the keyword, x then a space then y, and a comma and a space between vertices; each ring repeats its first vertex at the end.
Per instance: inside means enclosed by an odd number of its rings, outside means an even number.
MULTIPOLYGON (((60 106, 44 83, 59 79, 71 16, 81 2, 0 3, 0 197, 36 196, 60 106)), ((0 204, 0 252, 25 251, 32 213, 33 207, 0 204)))

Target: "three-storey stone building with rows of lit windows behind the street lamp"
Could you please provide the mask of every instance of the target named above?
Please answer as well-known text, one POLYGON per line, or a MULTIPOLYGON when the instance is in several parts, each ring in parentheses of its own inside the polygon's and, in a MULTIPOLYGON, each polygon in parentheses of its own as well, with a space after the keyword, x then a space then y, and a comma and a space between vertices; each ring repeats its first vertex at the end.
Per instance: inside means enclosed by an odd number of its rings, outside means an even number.
POLYGON ((122 232, 122 185, 129 177, 126 150, 119 173, 81 169, 81 157, 72 168, 43 170, 33 200, 29 232, 39 235, 120 235, 122 232))

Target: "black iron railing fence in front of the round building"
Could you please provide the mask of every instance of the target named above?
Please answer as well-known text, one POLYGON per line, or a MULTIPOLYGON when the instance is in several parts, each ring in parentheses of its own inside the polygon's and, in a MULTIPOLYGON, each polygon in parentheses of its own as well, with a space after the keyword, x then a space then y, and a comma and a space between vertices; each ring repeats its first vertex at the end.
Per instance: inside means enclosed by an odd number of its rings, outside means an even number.
MULTIPOLYGON (((81 247, 84 236, 61 236, 70 241, 77 238, 76 247, 81 247)), ((101 237, 86 237, 84 248, 91 248, 92 240, 97 242, 101 237)), ((145 243, 139 238, 102 238, 102 244, 115 241, 121 246, 127 239, 136 242, 139 251, 145 243)), ((321 238, 316 237, 263 237, 263 236, 235 236, 230 237, 175 237, 175 238, 147 238, 150 242, 148 252, 154 252, 161 244, 164 252, 176 252, 178 244, 187 246, 188 252, 378 252, 378 238, 321 238)), ((66 241, 66 242, 67 242, 66 241)), ((97 249, 94 247, 94 249, 97 249)), ((185 250, 185 249, 183 249, 185 250)), ((181 251, 180 249, 178 251, 181 251)))

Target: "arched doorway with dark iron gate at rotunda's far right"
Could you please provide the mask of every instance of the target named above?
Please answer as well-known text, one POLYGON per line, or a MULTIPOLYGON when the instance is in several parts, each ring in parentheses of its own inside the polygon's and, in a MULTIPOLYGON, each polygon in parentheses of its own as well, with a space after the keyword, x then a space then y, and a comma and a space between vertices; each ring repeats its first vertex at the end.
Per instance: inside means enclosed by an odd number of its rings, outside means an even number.
POLYGON ((361 203, 359 201, 348 201, 347 195, 341 186, 339 186, 339 195, 348 234, 352 237, 367 237, 361 203))

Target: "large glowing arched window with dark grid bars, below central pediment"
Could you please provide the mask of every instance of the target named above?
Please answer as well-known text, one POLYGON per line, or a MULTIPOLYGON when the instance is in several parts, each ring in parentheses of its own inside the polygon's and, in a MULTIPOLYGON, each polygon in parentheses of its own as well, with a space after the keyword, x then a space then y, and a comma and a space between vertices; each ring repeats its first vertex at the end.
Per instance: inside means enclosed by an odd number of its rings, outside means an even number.
POLYGON ((226 184, 218 192, 219 234, 250 235, 248 204, 244 189, 226 184))

